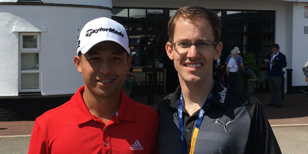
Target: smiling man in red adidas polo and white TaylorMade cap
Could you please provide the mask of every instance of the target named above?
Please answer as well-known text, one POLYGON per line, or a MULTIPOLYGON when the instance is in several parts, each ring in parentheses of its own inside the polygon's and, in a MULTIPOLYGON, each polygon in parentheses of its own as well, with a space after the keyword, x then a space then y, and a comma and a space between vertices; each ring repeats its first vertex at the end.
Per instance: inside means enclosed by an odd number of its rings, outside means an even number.
POLYGON ((35 120, 28 153, 157 153, 157 112, 121 90, 131 62, 124 27, 90 21, 77 53, 84 86, 35 120))

